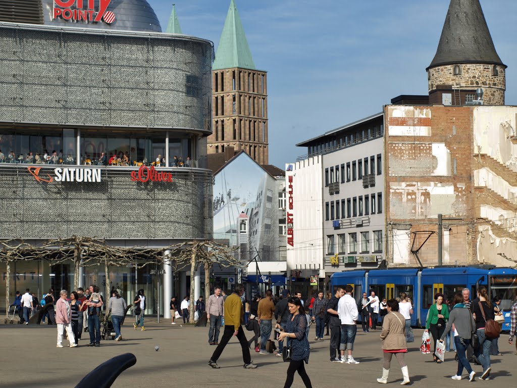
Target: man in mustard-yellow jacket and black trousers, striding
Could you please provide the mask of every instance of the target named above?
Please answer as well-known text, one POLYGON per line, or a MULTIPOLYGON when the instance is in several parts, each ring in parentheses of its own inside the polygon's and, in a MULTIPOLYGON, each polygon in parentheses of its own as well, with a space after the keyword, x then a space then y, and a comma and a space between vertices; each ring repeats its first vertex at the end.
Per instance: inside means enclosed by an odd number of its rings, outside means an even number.
POLYGON ((240 283, 235 285, 234 292, 226 298, 224 302, 224 333, 220 344, 217 346, 214 354, 210 357, 208 365, 212 368, 218 369, 217 360, 223 352, 226 344, 232 337, 237 337, 242 348, 242 360, 244 361, 244 368, 254 369, 256 365, 251 362, 250 350, 248 348, 248 341, 246 335, 242 330, 242 322, 244 321, 244 308, 240 296, 244 294, 244 287, 240 283))

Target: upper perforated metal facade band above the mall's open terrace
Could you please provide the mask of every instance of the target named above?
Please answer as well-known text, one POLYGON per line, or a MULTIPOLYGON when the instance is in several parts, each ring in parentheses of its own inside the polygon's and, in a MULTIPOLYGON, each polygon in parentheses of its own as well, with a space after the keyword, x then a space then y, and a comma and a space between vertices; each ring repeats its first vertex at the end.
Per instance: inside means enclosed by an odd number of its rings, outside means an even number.
POLYGON ((0 122, 210 129, 211 42, 0 23, 0 122))

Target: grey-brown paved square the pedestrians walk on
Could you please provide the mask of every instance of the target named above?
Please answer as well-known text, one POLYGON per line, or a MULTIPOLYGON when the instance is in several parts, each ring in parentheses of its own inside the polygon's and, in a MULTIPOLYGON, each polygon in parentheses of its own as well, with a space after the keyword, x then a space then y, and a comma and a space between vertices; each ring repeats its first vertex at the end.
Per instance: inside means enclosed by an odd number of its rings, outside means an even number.
MULTIPOLYGON (((3 321, 2 321, 3 323, 3 321)), ((114 387, 227 387, 242 386, 264 388, 282 387, 285 382, 287 363, 272 355, 260 355, 251 350, 252 360, 258 365, 254 370, 242 368, 242 354, 237 339, 226 346, 218 363, 220 369, 207 365, 214 346, 208 345, 208 328, 180 327, 168 321, 156 323, 156 319, 145 320, 146 331, 133 330, 132 319, 128 317, 123 327, 124 340, 101 341, 100 348, 88 347, 88 333, 78 348, 56 348, 57 330, 47 325, 3 325, 0 324, 0 386, 20 387, 74 387, 84 375, 111 357, 131 352, 136 355, 136 365, 123 372, 114 387), (160 350, 155 351, 155 346, 160 350), (62 376, 62 377, 58 377, 62 376)), ((246 332, 248 338, 251 332, 246 332)), ((376 378, 382 374, 382 350, 380 331, 363 334, 356 338, 354 357, 359 365, 330 363, 329 337, 314 342, 314 327, 311 327, 311 355, 307 372, 315 388, 343 386, 378 387, 376 378)), ((454 353, 446 354, 446 362, 435 364, 431 355, 423 355, 418 350, 422 335, 416 330, 416 342, 409 344, 406 362, 413 386, 456 387, 468 381, 451 380, 457 363, 454 353)), ((221 332, 222 336, 222 332, 221 332)), ((220 337, 221 338, 221 337, 220 337)), ((491 380, 478 382, 486 386, 514 386, 513 370, 517 355, 514 347, 507 342, 508 335, 499 339, 503 356, 492 357, 491 380)), ((64 345, 68 341, 64 342, 64 345)), ((481 374, 481 366, 474 367, 481 374)), ((465 375, 464 375, 465 376, 465 375)), ((401 370, 395 359, 392 361, 389 383, 392 386, 402 381, 401 370)), ((293 387, 302 387, 298 375, 293 387)))

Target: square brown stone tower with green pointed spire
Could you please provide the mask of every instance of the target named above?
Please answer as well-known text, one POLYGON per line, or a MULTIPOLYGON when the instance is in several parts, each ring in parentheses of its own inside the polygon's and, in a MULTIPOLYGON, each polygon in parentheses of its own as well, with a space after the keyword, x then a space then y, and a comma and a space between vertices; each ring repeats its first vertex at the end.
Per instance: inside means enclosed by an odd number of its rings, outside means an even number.
POLYGON ((267 75, 257 70, 234 0, 212 66, 212 135, 208 154, 228 146, 268 164, 267 75))

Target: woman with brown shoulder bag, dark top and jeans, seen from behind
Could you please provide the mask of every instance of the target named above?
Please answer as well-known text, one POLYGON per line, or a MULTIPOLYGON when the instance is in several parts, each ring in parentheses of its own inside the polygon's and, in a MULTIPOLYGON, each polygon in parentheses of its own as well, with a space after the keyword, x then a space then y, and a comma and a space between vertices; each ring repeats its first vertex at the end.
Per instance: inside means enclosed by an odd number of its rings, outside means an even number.
POLYGON ((490 371, 492 370, 490 364, 490 350, 492 349, 493 338, 488 338, 485 335, 485 323, 489 319, 494 319, 494 308, 485 286, 480 286, 478 289, 477 303, 472 303, 472 311, 476 320, 476 333, 479 338, 479 346, 474 349, 474 354, 483 366, 483 374, 479 377, 479 380, 489 380, 490 371))

